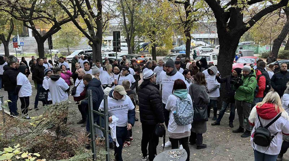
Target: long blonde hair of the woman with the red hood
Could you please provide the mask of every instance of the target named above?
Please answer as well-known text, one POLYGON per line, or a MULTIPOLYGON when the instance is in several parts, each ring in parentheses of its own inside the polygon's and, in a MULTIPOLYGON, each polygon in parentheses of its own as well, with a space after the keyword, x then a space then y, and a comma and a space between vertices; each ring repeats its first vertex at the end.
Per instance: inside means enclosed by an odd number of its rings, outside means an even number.
POLYGON ((282 108, 281 99, 279 97, 279 94, 276 91, 269 92, 263 99, 262 102, 257 103, 257 106, 261 107, 266 103, 271 103, 275 107, 275 111, 277 113, 285 111, 284 108, 282 108))

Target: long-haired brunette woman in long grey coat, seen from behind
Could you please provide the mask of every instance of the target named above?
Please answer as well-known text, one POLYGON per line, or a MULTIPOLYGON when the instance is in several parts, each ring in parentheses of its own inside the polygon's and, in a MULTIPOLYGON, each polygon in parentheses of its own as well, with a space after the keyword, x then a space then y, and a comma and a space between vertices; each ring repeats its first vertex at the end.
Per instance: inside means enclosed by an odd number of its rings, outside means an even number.
MULTIPOLYGON (((198 72, 194 77, 194 83, 190 85, 189 89, 189 94, 191 99, 194 100, 194 105, 204 106, 207 108, 207 105, 210 102, 210 97, 206 85, 205 74, 198 72)), ((197 144, 197 149, 204 149, 207 147, 206 144, 203 144, 203 133, 207 131, 207 121, 194 120, 192 123, 190 145, 197 144)))

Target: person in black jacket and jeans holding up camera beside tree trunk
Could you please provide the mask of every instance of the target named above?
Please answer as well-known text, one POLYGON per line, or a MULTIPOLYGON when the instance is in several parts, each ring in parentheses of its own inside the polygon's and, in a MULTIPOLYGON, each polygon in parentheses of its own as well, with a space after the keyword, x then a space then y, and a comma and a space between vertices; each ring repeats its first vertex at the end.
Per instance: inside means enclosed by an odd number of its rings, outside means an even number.
POLYGON ((232 70, 231 75, 225 76, 223 78, 220 78, 219 73, 216 75, 216 79, 218 83, 226 83, 225 84, 226 95, 224 96, 224 101, 222 103, 222 109, 220 110, 219 116, 216 122, 212 123, 213 126, 220 125, 221 119, 223 118, 227 107, 229 106, 229 104, 231 104, 230 116, 229 116, 229 127, 234 127, 233 121, 235 118, 235 111, 236 111, 234 95, 235 95, 236 89, 233 88, 233 85, 238 80, 242 80, 240 76, 241 72, 242 72, 241 68, 235 68, 234 70, 232 70))

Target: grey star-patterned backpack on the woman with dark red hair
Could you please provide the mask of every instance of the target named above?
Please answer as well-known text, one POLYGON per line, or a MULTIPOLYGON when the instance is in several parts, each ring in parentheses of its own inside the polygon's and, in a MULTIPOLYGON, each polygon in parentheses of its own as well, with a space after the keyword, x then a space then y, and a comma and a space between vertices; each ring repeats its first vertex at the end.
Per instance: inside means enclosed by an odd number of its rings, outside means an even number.
POLYGON ((176 111, 173 113, 175 122, 177 125, 193 123, 194 109, 190 99, 188 97, 185 99, 177 98, 176 111))

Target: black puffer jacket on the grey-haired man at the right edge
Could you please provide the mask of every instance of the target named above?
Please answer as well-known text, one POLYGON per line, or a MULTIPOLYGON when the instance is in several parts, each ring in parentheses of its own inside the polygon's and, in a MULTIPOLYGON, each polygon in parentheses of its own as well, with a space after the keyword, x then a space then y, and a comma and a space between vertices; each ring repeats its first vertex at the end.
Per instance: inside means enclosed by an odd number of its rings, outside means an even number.
POLYGON ((278 92, 280 98, 286 90, 286 83, 289 81, 289 72, 286 70, 284 72, 279 71, 275 73, 271 78, 272 88, 278 92))

